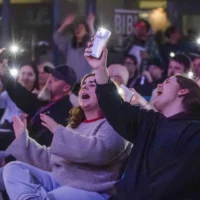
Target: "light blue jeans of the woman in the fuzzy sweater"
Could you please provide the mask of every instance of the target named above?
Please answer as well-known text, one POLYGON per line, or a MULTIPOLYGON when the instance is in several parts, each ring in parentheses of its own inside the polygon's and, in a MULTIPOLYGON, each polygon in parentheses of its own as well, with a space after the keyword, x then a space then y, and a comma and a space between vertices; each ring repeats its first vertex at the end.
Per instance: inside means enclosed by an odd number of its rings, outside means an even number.
MULTIPOLYGON (((51 173, 18 161, 4 167, 3 182, 11 200, 105 200, 110 197, 68 186, 60 187, 51 173)), ((1 178, 0 189, 4 189, 1 178)))

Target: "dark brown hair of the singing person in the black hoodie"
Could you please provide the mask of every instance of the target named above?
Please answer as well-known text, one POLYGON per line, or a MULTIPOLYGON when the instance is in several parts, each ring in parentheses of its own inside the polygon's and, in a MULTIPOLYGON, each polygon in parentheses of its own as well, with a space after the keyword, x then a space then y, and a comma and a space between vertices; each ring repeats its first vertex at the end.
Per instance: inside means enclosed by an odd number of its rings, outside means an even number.
POLYGON ((183 99, 185 111, 191 115, 200 117, 200 87, 196 81, 183 75, 176 75, 181 89, 189 89, 189 93, 183 99))

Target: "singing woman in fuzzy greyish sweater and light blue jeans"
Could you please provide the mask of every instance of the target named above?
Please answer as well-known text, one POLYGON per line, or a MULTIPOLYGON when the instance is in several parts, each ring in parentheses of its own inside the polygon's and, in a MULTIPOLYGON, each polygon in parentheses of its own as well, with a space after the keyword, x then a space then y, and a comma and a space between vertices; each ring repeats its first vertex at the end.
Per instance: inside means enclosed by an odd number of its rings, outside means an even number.
POLYGON ((18 161, 3 170, 11 200, 110 197, 132 144, 119 136, 103 117, 95 89, 95 77, 90 74, 81 83, 80 107, 72 109, 67 127, 41 115, 43 125, 54 134, 50 148, 32 140, 25 131, 25 122, 14 118, 16 139, 7 153, 18 161))

